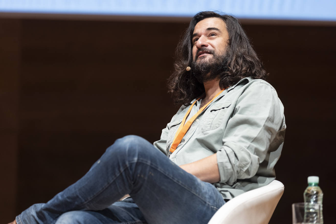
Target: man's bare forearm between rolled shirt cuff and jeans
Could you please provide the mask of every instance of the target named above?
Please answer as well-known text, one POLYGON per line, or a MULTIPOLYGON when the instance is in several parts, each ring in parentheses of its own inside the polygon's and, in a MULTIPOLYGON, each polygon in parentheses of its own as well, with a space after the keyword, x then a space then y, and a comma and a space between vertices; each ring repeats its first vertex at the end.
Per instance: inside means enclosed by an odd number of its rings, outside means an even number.
POLYGON ((216 153, 202 160, 181 165, 180 167, 202 181, 209 183, 216 183, 220 181, 216 153))

